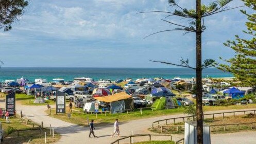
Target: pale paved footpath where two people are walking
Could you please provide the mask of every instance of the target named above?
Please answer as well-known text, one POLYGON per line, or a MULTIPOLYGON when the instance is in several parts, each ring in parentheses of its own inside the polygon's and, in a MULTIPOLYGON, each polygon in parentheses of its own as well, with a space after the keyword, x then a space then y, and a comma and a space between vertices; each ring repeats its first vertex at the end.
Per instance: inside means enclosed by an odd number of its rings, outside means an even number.
MULTIPOLYGON (((4 102, 0 102, 0 106, 4 105, 4 102)), ((2 106, 3 107, 3 106, 2 106)), ((22 110, 23 116, 31 119, 34 122, 41 123, 43 121, 44 127, 49 127, 49 124, 55 128, 55 131, 62 135, 61 139, 57 143, 111 143, 112 141, 116 140, 117 137, 112 138, 111 134, 113 133, 113 124, 105 125, 105 127, 96 127, 95 134, 98 138, 89 138, 89 128, 88 127, 80 127, 76 124, 72 124, 69 122, 65 122, 56 118, 52 118, 47 116, 44 113, 46 110, 46 106, 27 106, 27 105, 16 105, 17 110, 22 110)), ((212 111, 212 112, 231 112, 234 110, 223 110, 223 111, 212 111)), ((206 113, 212 113, 206 112, 206 113)), ((241 113, 242 114, 242 113, 241 113)), ((226 115, 226 114, 225 114, 226 115)), ((228 114, 227 114, 228 115, 228 114)), ((122 122, 120 120, 120 131, 121 136, 128 136, 133 131, 133 134, 147 134, 150 133, 147 129, 151 127, 152 122, 160 119, 166 118, 174 118, 174 117, 181 117, 184 114, 178 115, 169 115, 169 116, 160 116, 160 117, 153 117, 153 118, 146 118, 146 119, 139 119, 139 120, 132 120, 128 122, 122 122)), ((222 116, 222 115, 219 115, 222 116)), ((209 116, 211 117, 211 116, 209 116)), ((215 116, 217 117, 217 115, 215 116)), ((179 122, 179 120, 177 120, 179 122)), ((174 135, 174 140, 178 140, 182 138, 183 135, 174 135)), ((212 143, 256 143, 256 132, 249 131, 249 132, 239 132, 239 133, 231 133, 231 134, 212 134, 211 141, 212 143)), ((152 137, 152 140, 168 140, 169 137, 152 137)), ((148 140, 148 137, 140 137, 134 138, 133 141, 137 140, 148 140)), ((128 143, 128 139, 122 141, 122 143, 128 143)))

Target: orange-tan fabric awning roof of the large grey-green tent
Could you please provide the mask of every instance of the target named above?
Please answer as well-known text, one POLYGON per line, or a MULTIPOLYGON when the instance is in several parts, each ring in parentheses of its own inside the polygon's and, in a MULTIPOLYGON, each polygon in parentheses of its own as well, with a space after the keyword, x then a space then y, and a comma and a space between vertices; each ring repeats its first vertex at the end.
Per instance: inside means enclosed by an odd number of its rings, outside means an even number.
POLYGON ((132 97, 126 94, 125 92, 121 92, 121 93, 116 93, 114 95, 106 96, 106 97, 95 97, 94 99, 98 101, 104 101, 104 102, 114 102, 114 101, 128 99, 128 98, 132 98, 132 97))

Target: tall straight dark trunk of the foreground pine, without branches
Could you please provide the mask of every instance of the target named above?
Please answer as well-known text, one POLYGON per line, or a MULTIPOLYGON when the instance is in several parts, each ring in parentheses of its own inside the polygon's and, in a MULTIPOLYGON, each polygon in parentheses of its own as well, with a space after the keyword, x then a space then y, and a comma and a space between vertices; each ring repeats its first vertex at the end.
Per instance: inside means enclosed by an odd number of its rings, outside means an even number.
POLYGON ((196 0, 196 122, 197 144, 203 143, 202 119, 202 31, 201 31, 201 0, 196 0))

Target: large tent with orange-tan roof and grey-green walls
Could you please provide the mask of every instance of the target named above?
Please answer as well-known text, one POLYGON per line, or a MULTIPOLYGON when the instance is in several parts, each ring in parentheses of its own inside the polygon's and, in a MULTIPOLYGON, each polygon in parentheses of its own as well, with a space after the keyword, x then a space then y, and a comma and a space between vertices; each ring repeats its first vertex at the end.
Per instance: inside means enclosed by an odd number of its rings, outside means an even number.
POLYGON ((109 102, 111 113, 120 113, 125 110, 133 110, 133 98, 125 92, 116 93, 106 97, 95 97, 94 99, 103 102, 109 102))

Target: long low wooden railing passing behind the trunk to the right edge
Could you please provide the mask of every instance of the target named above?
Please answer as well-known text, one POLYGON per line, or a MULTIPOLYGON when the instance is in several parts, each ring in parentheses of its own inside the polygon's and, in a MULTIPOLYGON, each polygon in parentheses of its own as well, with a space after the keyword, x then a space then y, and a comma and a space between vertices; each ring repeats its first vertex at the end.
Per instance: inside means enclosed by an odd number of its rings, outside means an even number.
MULTIPOLYGON (((212 118, 214 119, 214 116, 215 115, 219 115, 219 114, 223 114, 223 118, 225 117, 225 114, 228 114, 228 113, 233 113, 233 116, 235 117, 235 113, 241 113, 241 112, 244 112, 244 115, 246 112, 253 112, 254 115, 255 115, 255 111, 256 110, 244 110, 244 111, 232 111, 232 112, 222 112, 222 113, 211 113, 211 114, 203 114, 203 119, 204 119, 204 116, 207 116, 207 115, 212 115, 212 118)), ((185 118, 192 118, 193 116, 184 116, 184 117, 175 117, 175 118, 168 118, 168 119, 162 119, 162 120, 157 120, 157 121, 154 121, 152 122, 152 129, 154 129, 154 126, 157 125, 158 128, 159 128, 159 122, 163 122, 165 121, 165 125, 167 125, 167 121, 173 121, 173 123, 176 123, 176 120, 177 119, 183 119, 183 122, 185 122, 185 118)))

